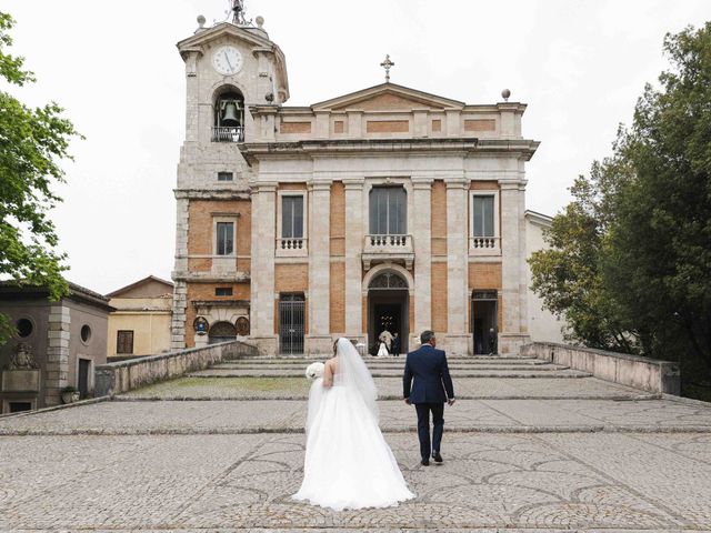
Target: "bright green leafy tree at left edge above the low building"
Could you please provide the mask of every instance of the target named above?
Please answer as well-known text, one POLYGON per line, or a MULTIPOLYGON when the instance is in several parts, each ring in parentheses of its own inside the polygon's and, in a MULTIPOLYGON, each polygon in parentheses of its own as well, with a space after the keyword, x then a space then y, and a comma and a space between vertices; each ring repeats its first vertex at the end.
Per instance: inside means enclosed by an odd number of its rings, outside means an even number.
MULTIPOLYGON (((23 58, 7 52, 13 24, 0 12, 0 78, 22 87, 34 76, 23 69, 23 58)), ((64 181, 60 163, 71 159, 69 142, 78 135, 61 113, 54 102, 30 109, 0 91, 0 279, 47 285, 52 300, 68 286, 61 275, 66 255, 56 250, 58 238, 48 215, 61 201, 51 187, 64 181)), ((0 314, 0 344, 12 332, 9 318, 0 314)))

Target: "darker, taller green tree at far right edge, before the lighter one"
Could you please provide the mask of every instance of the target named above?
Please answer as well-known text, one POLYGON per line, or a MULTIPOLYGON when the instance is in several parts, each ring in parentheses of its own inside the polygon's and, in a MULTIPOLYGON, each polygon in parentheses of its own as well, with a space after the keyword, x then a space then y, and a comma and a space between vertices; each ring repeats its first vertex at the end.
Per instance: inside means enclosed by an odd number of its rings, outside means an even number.
POLYGON ((613 199, 605 285, 644 325, 644 353, 691 355, 711 375, 711 23, 668 34, 664 51, 672 68, 619 142, 634 179, 613 199))

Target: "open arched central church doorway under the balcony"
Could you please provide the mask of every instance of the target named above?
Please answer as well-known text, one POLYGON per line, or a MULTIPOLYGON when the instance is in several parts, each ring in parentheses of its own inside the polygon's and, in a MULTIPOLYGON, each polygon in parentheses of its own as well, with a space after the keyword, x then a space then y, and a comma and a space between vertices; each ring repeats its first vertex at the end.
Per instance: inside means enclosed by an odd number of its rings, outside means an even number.
MULTIPOLYGON (((369 352, 378 353, 378 339, 383 331, 398 334, 400 353, 408 352, 410 335, 408 283, 394 272, 374 278, 368 288, 368 342, 369 352)), ((391 351, 392 351, 391 345, 391 351)))

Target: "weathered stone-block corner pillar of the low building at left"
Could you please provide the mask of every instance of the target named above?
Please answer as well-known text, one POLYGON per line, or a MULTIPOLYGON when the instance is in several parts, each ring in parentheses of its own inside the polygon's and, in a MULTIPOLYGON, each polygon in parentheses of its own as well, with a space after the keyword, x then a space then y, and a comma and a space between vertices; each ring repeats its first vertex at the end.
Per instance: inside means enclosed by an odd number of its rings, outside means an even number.
POLYGON ((44 375, 44 405, 61 404, 61 390, 69 384, 69 340, 71 316, 61 303, 49 310, 47 332, 47 374, 44 375))

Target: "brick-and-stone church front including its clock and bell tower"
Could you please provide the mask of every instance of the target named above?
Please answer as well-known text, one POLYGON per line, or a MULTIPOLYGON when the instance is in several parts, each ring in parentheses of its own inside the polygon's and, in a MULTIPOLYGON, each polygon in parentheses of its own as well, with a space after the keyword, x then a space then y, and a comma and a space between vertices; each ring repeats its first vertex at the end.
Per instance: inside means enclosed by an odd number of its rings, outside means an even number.
POLYGON ((372 351, 389 330, 404 352, 431 329, 451 353, 489 353, 491 333, 515 353, 530 340, 525 163, 539 144, 522 137, 525 105, 388 80, 288 107, 286 58, 262 24, 178 43, 172 346, 328 353, 344 335, 372 351))

